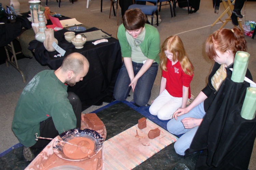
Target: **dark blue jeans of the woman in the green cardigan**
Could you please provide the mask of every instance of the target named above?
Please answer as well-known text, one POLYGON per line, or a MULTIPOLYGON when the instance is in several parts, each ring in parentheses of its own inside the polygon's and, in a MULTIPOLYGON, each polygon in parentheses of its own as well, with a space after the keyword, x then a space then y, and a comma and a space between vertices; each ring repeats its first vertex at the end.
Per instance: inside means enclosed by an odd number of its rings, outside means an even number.
MULTIPOLYGON (((134 76, 136 76, 136 74, 140 71, 143 64, 132 62, 132 66, 133 66, 134 76)), ((148 100, 150 99, 150 96, 151 96, 151 90, 156 78, 157 71, 158 71, 158 64, 155 62, 139 78, 133 94, 133 100, 139 106, 144 106, 148 103, 148 100)), ((116 100, 122 101, 127 99, 131 90, 131 86, 129 87, 130 83, 131 83, 131 80, 129 78, 127 69, 125 67, 125 64, 123 64, 123 66, 119 71, 115 88, 114 88, 114 98, 116 100)))

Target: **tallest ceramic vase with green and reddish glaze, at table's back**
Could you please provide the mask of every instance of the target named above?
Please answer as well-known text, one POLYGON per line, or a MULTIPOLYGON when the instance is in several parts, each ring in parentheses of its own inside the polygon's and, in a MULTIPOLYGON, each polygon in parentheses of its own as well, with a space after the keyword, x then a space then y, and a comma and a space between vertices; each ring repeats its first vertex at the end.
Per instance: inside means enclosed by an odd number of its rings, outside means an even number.
POLYGON ((31 18, 32 18, 32 29, 34 30, 35 34, 38 33, 39 31, 39 17, 38 17, 38 11, 40 11, 40 2, 39 0, 31 0, 28 1, 29 3, 29 11, 31 14, 31 18))

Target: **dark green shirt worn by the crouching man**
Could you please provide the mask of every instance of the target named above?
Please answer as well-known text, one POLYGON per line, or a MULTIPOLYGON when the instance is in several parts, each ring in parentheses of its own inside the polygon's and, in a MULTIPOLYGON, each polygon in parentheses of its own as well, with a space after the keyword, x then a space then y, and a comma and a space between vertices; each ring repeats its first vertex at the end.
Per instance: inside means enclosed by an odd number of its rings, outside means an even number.
POLYGON ((26 147, 33 146, 35 133, 40 136, 40 122, 53 118, 59 133, 76 128, 76 117, 69 102, 68 86, 54 74, 54 70, 39 72, 27 84, 18 100, 12 130, 26 147))

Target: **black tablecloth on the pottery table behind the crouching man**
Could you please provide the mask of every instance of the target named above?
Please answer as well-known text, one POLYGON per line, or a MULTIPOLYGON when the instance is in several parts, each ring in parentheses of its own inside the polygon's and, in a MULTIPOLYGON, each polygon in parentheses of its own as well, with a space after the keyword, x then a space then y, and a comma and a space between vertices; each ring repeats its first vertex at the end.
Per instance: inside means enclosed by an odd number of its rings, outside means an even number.
MULTIPOLYGON (((96 31, 98 28, 90 28, 87 31, 96 31)), ((58 39, 58 45, 66 51, 65 56, 73 52, 83 54, 89 61, 89 71, 83 81, 68 87, 68 91, 73 91, 79 96, 83 109, 101 103, 105 97, 109 97, 111 102, 115 81, 122 66, 122 56, 119 41, 113 37, 108 38, 109 42, 97 45, 86 42, 82 49, 76 49, 72 43, 64 38, 64 33, 68 30, 56 31, 54 36, 58 39)), ((86 32, 87 32, 86 31, 86 32)), ((34 50, 34 56, 41 65, 48 65, 56 70, 62 64, 65 56, 54 57, 57 51, 48 52, 43 43, 33 40, 29 43, 29 49, 34 50)))

